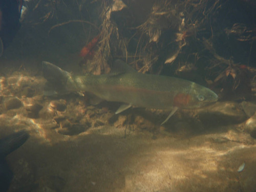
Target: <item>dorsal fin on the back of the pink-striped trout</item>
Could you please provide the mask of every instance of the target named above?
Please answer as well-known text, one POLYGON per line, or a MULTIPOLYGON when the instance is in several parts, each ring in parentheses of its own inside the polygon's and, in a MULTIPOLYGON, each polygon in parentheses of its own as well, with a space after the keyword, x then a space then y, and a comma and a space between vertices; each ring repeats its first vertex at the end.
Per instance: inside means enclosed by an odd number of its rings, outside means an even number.
POLYGON ((129 66, 126 62, 116 59, 112 63, 110 74, 118 75, 122 73, 137 73, 137 71, 129 66))

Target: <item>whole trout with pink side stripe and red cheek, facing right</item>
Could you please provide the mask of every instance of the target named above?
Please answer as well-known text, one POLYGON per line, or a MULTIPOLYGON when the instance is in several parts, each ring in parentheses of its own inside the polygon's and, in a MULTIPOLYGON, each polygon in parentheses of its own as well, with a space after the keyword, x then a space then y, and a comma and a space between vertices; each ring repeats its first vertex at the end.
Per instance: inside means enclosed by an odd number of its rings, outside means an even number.
MULTIPOLYGON (((86 91, 102 100, 123 102, 116 114, 140 106, 148 109, 172 110, 165 123, 178 108, 193 109, 218 100, 208 88, 185 79, 142 74, 121 60, 113 63, 113 70, 104 75, 75 76, 50 62, 42 61, 47 79, 45 95, 72 91, 86 91)), ((163 124, 162 123, 162 124, 163 124)))

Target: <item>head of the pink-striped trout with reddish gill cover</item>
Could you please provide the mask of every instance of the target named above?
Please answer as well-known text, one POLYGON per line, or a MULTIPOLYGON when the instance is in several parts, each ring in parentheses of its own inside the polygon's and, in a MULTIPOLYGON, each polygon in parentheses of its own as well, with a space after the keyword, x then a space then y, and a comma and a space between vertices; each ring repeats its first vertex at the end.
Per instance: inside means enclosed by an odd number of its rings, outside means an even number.
POLYGON ((215 92, 193 82, 184 92, 175 95, 174 106, 183 109, 194 109, 207 106, 217 100, 218 95, 215 92))

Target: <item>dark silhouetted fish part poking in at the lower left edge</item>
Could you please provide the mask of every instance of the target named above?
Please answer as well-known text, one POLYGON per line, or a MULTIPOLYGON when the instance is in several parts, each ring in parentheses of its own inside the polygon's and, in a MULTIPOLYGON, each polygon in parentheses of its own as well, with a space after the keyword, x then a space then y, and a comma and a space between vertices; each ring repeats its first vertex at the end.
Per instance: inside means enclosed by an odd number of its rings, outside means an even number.
POLYGON ((7 191, 13 178, 5 157, 23 145, 28 138, 26 131, 19 131, 0 139, 0 191, 7 191))

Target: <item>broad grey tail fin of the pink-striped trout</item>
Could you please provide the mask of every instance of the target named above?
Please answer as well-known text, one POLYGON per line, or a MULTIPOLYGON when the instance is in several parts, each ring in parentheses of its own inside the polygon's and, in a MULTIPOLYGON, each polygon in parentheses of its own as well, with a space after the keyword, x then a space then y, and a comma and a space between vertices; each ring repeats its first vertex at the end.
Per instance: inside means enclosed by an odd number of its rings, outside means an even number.
POLYGON ((67 81, 71 74, 50 62, 42 61, 42 71, 47 79, 44 95, 51 96, 67 92, 67 81))

